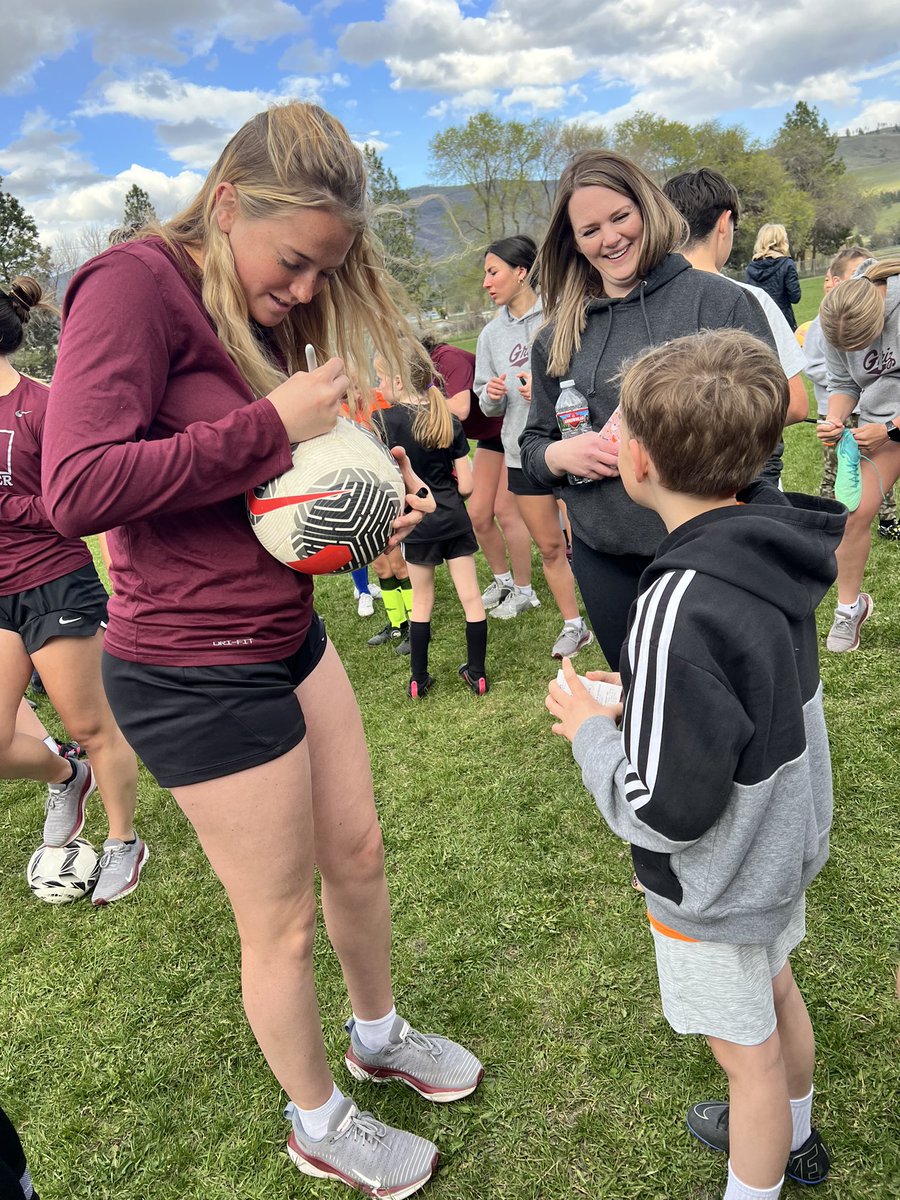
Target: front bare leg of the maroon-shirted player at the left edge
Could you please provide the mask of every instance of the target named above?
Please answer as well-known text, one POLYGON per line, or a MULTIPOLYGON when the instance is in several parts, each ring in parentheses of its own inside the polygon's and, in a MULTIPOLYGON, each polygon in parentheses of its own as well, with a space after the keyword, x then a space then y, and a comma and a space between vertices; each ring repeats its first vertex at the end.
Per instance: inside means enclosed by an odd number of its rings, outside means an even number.
POLYGON ((94 637, 52 637, 32 659, 68 733, 82 744, 97 780, 109 836, 134 836, 138 762, 107 701, 100 672, 103 630, 94 637))

